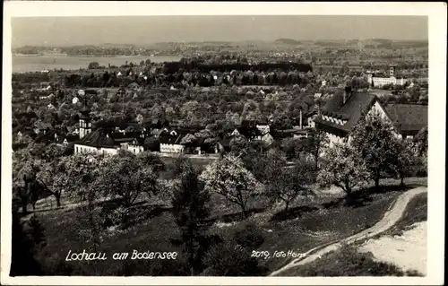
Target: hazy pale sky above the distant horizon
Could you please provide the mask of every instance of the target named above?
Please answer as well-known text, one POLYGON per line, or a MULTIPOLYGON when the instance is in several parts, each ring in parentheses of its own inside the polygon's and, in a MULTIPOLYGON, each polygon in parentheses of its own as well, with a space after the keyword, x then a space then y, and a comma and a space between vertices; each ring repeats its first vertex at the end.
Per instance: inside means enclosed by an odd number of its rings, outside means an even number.
POLYGON ((427 39, 426 16, 117 16, 13 18, 13 47, 147 45, 280 38, 427 39))

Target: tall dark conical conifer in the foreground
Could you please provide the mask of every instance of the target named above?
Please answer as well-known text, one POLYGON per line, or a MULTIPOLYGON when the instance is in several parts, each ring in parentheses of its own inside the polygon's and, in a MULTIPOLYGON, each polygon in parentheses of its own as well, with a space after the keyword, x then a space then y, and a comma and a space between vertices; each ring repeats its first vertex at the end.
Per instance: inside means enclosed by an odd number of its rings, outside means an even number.
POLYGON ((171 200, 172 213, 181 233, 180 239, 173 239, 173 242, 184 247, 192 276, 202 272, 202 258, 210 245, 205 234, 206 225, 202 222, 209 217, 209 201, 210 194, 204 190, 193 164, 185 160, 171 200))

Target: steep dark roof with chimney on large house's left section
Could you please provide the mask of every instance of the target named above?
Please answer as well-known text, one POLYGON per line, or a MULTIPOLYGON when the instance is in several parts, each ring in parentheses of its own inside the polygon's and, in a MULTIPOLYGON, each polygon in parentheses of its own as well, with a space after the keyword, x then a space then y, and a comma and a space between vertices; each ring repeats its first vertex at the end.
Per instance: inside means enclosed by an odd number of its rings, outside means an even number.
MULTIPOLYGON (((336 92, 332 98, 327 100, 323 108, 323 114, 314 119, 317 126, 328 129, 328 132, 334 129, 340 129, 340 132, 347 134, 354 126, 358 124, 359 119, 363 114, 375 104, 377 97, 375 94, 365 92, 351 92, 347 101, 343 102, 344 91, 336 92), (323 120, 323 116, 335 117, 347 120, 344 125, 340 125, 328 120, 323 120), (327 128, 329 127, 329 128, 327 128)), ((338 133, 340 133, 338 132, 338 133)), ((334 134, 334 132, 332 132, 334 134)))

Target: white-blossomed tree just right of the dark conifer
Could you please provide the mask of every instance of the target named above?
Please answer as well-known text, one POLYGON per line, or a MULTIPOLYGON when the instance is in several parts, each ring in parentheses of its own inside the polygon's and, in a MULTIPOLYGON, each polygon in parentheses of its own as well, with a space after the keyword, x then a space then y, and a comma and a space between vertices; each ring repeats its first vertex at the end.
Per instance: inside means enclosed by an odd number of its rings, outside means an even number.
POLYGON ((206 190, 223 195, 229 202, 239 205, 246 218, 249 216, 249 198, 261 194, 260 183, 244 167, 243 161, 233 155, 213 161, 200 178, 206 190))

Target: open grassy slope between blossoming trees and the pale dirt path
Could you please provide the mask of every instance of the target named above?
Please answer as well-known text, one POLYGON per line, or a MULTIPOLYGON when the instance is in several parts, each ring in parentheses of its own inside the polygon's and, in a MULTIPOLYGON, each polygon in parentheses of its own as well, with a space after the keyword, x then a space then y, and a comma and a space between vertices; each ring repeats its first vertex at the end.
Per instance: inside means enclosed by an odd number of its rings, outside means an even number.
MULTIPOLYGON (((330 202, 306 207, 293 220, 271 221, 269 227, 274 231, 266 238, 260 250, 273 253, 275 250, 287 252, 292 249, 305 253, 313 247, 347 238, 375 225, 400 194, 399 191, 372 194, 360 206, 346 206, 340 201, 338 204, 330 202)), ((292 259, 271 258, 264 264, 273 271, 292 259)))

